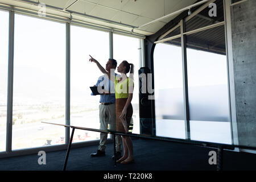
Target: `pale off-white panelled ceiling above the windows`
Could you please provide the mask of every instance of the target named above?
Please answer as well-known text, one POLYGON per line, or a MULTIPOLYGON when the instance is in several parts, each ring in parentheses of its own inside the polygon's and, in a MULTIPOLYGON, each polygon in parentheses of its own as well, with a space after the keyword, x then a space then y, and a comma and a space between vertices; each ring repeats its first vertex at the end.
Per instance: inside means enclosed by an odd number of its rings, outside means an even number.
MULTIPOLYGON (((38 2, 38 0, 30 0, 38 2)), ((59 7, 61 9, 67 8, 76 0, 39 0, 46 5, 59 7)), ((145 23, 151 22, 152 20, 161 18, 164 15, 173 13, 174 11, 183 9, 197 0, 79 0, 67 10, 79 12, 82 14, 88 14, 96 16, 98 18, 109 19, 118 23, 125 23, 131 26, 141 26, 145 23)), ((9 5, 17 5, 18 7, 26 7, 31 10, 38 10, 37 5, 31 5, 30 3, 14 0, 0 0, 0 2, 7 2, 9 5), (23 4, 23 5, 22 5, 23 4)), ((49 13, 52 15, 63 15, 67 16, 65 11, 57 11, 49 9, 49 13)), ((160 30, 166 23, 170 22, 178 14, 161 20, 160 22, 152 23, 148 26, 139 28, 138 31, 143 30, 145 35, 148 32, 154 34, 160 30)), ((78 15, 76 16, 78 18, 78 15)), ((82 16, 81 16, 82 18, 82 16)), ((78 18, 78 19, 81 19, 78 18)), ((100 20, 100 19, 99 19, 100 20)), ((99 23, 99 20, 90 19, 88 22, 95 24, 99 23)), ((110 27, 117 26, 116 24, 108 24, 110 27)), ((122 25, 119 25, 122 27, 122 25)), ((122 27, 122 30, 126 30, 127 27, 122 27)))

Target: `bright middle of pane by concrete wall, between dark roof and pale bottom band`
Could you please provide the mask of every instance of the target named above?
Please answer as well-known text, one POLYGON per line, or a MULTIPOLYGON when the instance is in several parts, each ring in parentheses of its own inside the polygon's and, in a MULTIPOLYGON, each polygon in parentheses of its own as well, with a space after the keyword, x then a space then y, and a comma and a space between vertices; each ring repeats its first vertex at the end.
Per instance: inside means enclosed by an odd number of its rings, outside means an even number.
POLYGON ((187 49, 189 116, 195 121, 229 121, 226 56, 187 49))

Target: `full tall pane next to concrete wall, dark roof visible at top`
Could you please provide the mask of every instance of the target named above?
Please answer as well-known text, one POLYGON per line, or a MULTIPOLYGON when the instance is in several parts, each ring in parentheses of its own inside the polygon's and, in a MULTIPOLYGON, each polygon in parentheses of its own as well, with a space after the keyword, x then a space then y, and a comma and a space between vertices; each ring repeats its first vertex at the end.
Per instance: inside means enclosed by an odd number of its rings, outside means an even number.
POLYGON ((230 144, 224 26, 188 35, 187 46, 191 139, 230 144))

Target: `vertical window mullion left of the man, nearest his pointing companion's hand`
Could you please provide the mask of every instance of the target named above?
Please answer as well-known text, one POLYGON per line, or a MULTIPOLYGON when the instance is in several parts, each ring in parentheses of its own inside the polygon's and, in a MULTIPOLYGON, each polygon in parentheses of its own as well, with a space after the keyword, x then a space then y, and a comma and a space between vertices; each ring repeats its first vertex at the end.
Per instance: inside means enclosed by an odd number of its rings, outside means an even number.
MULTIPOLYGON (((65 124, 70 125, 70 71, 71 71, 71 38, 70 23, 66 23, 66 94, 65 94, 65 124)), ((65 127, 65 144, 69 143, 70 128, 65 127)))

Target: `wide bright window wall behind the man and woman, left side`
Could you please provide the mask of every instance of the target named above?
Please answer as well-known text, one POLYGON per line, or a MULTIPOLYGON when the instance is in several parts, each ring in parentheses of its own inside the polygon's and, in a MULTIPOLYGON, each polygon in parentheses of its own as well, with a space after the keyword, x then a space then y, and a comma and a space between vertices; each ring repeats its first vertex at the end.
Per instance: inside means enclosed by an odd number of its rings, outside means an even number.
MULTIPOLYGON (((9 14, 0 13, 0 151, 5 151, 9 14)), ((65 144, 65 128, 42 123, 65 124, 65 24, 20 14, 15 14, 14 22, 12 150, 65 144)), ((118 64, 128 60, 135 65, 132 103, 134 118, 139 119, 139 39, 114 35, 114 40, 118 64)), ((106 64, 109 32, 71 26, 71 125, 98 128, 100 96, 91 96, 89 86, 102 73, 89 62, 89 55, 106 64)), ((99 139, 98 133, 77 130, 73 142, 95 139, 99 139)))

